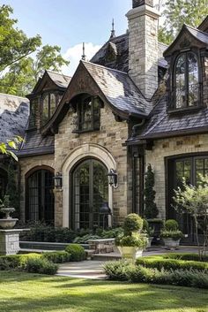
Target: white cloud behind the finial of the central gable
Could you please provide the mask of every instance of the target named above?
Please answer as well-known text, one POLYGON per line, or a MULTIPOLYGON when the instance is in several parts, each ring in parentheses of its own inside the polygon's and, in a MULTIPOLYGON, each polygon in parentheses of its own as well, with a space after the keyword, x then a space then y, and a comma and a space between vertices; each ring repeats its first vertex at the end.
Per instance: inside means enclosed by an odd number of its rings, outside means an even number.
MULTIPOLYGON (((83 54, 83 43, 78 43, 74 47, 67 49, 63 57, 70 61, 69 66, 63 66, 62 72, 65 75, 72 76, 78 67, 78 63, 83 54)), ((85 56, 90 60, 93 55, 101 48, 100 45, 93 45, 92 42, 85 43, 85 56)))

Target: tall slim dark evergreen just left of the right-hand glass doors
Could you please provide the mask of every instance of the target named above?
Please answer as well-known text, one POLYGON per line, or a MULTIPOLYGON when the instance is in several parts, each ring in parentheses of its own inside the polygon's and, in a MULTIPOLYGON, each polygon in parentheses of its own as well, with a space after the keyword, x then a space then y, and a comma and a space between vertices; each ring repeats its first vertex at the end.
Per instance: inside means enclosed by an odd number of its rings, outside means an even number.
POLYGON ((157 208, 155 200, 156 192, 153 189, 154 187, 154 173, 152 172, 151 164, 148 164, 147 171, 145 173, 145 217, 155 218, 158 217, 159 210, 157 208))

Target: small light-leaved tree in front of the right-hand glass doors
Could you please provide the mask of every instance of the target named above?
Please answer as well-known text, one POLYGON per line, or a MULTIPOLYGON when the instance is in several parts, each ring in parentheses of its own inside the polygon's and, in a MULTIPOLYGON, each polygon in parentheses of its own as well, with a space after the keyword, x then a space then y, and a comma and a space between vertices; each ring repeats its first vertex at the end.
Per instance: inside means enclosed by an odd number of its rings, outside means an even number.
POLYGON ((198 246, 198 255, 202 260, 205 255, 205 246, 208 243, 208 176, 199 176, 198 186, 187 185, 182 181, 182 188, 175 190, 175 209, 179 212, 188 212, 194 219, 198 246), (200 247, 198 232, 203 232, 203 247, 200 247))

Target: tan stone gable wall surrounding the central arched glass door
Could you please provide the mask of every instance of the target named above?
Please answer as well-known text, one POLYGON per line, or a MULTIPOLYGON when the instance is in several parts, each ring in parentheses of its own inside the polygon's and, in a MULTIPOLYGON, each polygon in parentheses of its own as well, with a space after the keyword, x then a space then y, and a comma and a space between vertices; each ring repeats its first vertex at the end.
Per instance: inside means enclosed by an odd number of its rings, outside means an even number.
MULTIPOLYGON (((95 150, 95 156, 100 159, 99 152, 96 150, 100 149, 100 154, 109 156, 110 159, 115 160, 115 168, 118 173, 118 188, 112 189, 112 204, 114 212, 115 224, 119 224, 123 221, 123 217, 130 212, 130 196, 128 195, 130 184, 128 184, 128 159, 127 159, 127 148, 123 147, 123 143, 128 138, 128 124, 126 122, 116 122, 115 116, 112 110, 104 105, 104 108, 100 111, 100 131, 94 131, 89 133, 72 133, 75 126, 72 125, 71 121, 76 117, 76 113, 73 110, 69 110, 63 121, 59 125, 58 134, 55 138, 55 169, 56 171, 63 172, 63 193, 56 192, 56 225, 66 225, 68 223, 68 217, 62 216, 63 210, 67 211, 71 209, 69 207, 70 201, 69 189, 71 183, 69 183, 69 170, 71 164, 66 165, 67 160, 71 159, 74 163, 76 159, 81 159, 87 156, 87 150, 89 150, 89 157, 92 155, 92 149, 95 150), (74 154, 73 154, 74 153, 74 154), (64 199, 65 198, 65 199, 64 199), (64 223, 65 222, 65 223, 64 223)), ((102 157, 103 159, 103 157, 102 157)), ((106 159, 106 164, 108 159, 106 159)), ((113 164, 113 163, 112 163, 113 164)), ((109 168, 108 168, 109 169, 109 168)))

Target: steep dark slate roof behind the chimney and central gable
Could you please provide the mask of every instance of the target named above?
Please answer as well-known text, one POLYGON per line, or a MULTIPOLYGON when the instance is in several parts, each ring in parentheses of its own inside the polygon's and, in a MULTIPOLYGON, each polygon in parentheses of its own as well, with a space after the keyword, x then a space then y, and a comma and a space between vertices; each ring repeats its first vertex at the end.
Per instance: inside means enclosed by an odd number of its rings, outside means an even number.
MULTIPOLYGON (((160 55, 167 49, 167 45, 159 42, 160 55)), ((122 72, 129 71, 129 34, 122 34, 114 38, 110 38, 100 50, 93 56, 90 62, 104 65, 109 68, 114 68, 122 72), (115 60, 108 60, 108 47, 109 45, 115 50, 115 60)), ((167 61, 160 57, 159 66, 167 67, 167 61)))

